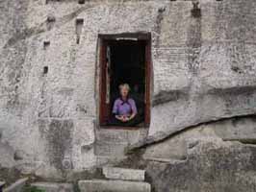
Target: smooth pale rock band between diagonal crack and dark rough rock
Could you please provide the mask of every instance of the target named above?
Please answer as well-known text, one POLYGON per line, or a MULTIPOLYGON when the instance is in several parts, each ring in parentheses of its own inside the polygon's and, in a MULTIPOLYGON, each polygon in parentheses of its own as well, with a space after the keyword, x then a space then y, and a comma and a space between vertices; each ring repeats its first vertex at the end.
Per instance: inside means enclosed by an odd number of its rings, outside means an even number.
POLYGON ((197 148, 201 140, 240 141, 255 144, 255 117, 236 117, 193 127, 176 134, 163 142, 149 145, 143 154, 144 159, 185 160, 188 150, 197 148))

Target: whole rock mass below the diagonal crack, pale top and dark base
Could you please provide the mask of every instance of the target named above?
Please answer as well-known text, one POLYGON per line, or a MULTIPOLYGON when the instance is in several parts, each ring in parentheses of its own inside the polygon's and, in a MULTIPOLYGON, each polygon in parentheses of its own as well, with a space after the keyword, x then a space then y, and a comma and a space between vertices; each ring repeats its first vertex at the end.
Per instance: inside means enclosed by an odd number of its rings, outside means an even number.
POLYGON ((143 158, 152 187, 160 192, 255 191, 254 121, 235 118, 201 125, 148 146, 143 158), (177 156, 180 151, 183 158, 177 156))

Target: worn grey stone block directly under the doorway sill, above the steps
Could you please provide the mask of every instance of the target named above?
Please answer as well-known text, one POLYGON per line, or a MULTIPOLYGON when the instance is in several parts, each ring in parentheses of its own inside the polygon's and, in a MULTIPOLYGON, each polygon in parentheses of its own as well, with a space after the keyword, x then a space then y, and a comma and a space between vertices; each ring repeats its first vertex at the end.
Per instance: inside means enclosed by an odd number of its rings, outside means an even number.
POLYGON ((96 144, 94 153, 97 156, 97 165, 115 165, 125 159, 125 149, 129 145, 139 142, 147 135, 147 129, 139 130, 110 130, 96 131, 96 144))

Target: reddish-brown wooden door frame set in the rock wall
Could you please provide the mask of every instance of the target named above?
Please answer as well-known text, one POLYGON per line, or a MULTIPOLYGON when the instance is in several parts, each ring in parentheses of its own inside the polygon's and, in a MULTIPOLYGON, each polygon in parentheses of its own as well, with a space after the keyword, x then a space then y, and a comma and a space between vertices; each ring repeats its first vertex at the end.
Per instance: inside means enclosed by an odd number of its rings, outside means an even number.
MULTIPOLYGON (((99 125, 104 126, 106 122, 104 111, 106 110, 106 58, 107 58, 107 45, 108 41, 112 40, 145 40, 145 116, 144 127, 148 128, 151 119, 151 77, 152 77, 152 58, 151 58, 151 34, 150 33, 137 33, 137 34, 117 34, 117 35, 99 35, 100 40, 100 53, 99 53, 99 125)), ((112 126, 109 126, 112 128, 112 126)), ((127 129, 127 128, 123 128, 127 129)))

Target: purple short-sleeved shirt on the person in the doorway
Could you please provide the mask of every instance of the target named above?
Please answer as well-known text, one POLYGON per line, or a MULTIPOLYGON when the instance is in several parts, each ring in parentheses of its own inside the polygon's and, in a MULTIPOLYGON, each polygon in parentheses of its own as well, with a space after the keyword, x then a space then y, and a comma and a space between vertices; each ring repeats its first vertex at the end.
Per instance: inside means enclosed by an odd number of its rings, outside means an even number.
POLYGON ((123 101, 120 98, 115 100, 113 113, 116 115, 130 115, 132 113, 137 114, 137 108, 135 101, 133 99, 128 99, 123 101))

